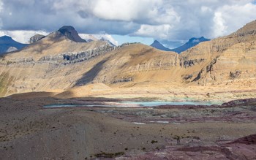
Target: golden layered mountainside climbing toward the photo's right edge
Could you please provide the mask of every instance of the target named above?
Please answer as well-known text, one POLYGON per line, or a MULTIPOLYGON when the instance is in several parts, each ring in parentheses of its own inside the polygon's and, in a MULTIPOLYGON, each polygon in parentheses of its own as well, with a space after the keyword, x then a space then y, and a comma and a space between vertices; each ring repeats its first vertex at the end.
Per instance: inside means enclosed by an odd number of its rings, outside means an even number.
POLYGON ((180 61, 181 67, 187 68, 187 80, 206 85, 256 77, 255 40, 256 21, 253 21, 229 36, 184 51, 180 61), (200 71, 196 72, 197 69, 200 71))

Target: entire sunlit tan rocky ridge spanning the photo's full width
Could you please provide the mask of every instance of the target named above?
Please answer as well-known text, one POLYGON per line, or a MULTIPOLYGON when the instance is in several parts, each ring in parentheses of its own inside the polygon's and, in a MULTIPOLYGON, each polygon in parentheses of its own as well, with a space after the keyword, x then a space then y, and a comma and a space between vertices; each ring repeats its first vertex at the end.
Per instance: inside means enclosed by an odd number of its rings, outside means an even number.
POLYGON ((60 31, 0 58, 0 95, 67 91, 90 83, 219 85, 256 78, 256 21, 180 55, 142 44, 75 42, 60 31))

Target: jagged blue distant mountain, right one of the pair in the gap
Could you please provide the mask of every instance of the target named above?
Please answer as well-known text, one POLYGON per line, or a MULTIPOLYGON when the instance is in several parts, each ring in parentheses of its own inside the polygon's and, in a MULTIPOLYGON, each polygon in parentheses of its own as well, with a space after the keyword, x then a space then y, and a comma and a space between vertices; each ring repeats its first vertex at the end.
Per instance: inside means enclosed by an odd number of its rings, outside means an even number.
POLYGON ((176 52, 176 53, 181 53, 181 52, 189 49, 190 47, 194 47, 195 45, 198 45, 200 42, 206 42, 209 40, 211 40, 211 39, 206 39, 205 37, 200 37, 200 38, 193 37, 193 38, 189 39, 189 41, 186 42, 184 45, 181 45, 180 47, 171 49, 171 51, 176 52))

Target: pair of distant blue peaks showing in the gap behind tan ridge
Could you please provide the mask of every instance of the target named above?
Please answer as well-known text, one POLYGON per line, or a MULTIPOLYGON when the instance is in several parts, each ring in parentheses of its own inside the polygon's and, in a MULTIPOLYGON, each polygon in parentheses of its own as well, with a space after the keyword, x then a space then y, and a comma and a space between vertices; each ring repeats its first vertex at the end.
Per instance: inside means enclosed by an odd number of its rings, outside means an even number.
POLYGON ((205 37, 200 37, 200 38, 191 38, 189 39, 188 42, 186 42, 184 45, 181 45, 180 47, 176 47, 173 49, 167 48, 164 45, 162 45, 160 42, 157 40, 154 40, 154 42, 150 45, 151 47, 155 47, 159 50, 165 50, 165 51, 173 51, 176 53, 181 53, 185 50, 188 50, 190 47, 194 47, 195 45, 198 45, 200 42, 206 42, 209 41, 210 39, 206 39, 205 37))

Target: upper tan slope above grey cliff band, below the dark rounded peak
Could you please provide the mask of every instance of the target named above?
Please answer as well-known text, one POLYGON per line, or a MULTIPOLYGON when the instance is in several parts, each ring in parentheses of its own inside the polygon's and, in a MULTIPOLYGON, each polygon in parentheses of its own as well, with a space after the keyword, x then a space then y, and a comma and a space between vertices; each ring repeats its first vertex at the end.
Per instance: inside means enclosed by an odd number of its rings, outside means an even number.
MULTIPOLYGON (((63 27, 62 27, 63 28, 63 27)), ((76 32, 76 31, 75 31, 76 32)), ((77 32, 76 32, 77 33, 77 32)), ((106 45, 106 42, 75 42, 71 39, 73 34, 63 34, 60 31, 53 31, 48 36, 40 39, 37 42, 29 45, 19 52, 4 55, 10 61, 23 61, 23 59, 30 59, 38 61, 40 58, 51 58, 61 53, 80 52, 85 50, 92 50, 96 47, 106 45), (70 38, 71 37, 71 38, 70 38)))

